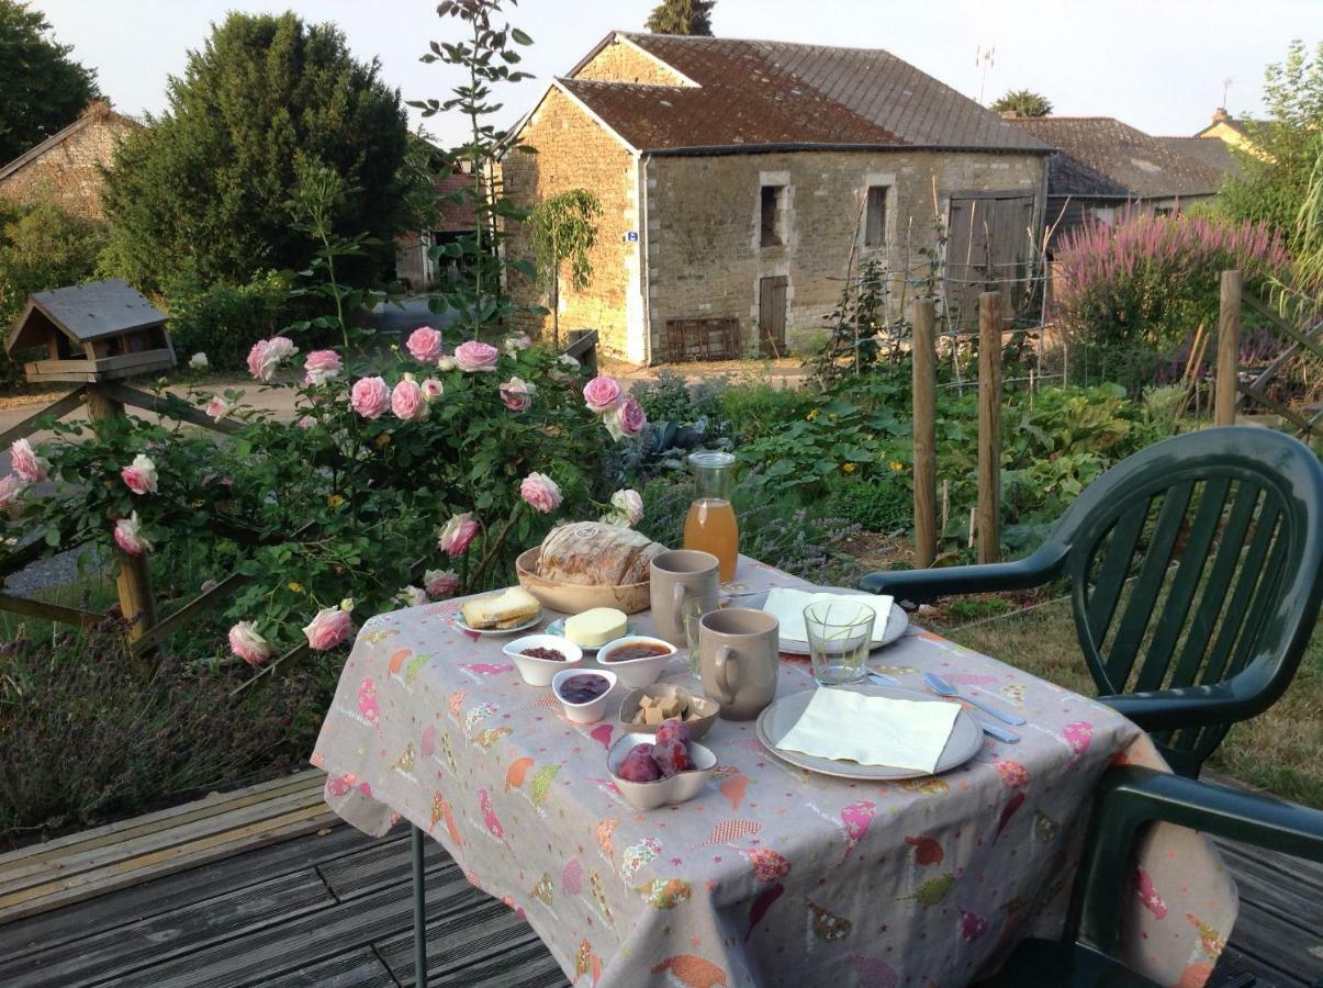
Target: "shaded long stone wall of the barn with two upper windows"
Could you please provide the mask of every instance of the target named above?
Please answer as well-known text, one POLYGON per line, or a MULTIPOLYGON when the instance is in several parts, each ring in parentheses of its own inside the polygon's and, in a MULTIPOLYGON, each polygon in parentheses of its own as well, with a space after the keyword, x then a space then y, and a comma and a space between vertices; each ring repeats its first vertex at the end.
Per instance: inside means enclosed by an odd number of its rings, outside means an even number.
MULTIPOLYGON (((934 189, 943 217, 953 192, 1024 189, 1041 204, 1044 157, 1015 153, 799 151, 646 159, 651 352, 667 319, 740 319, 745 350, 758 348, 759 280, 789 279, 791 349, 824 339, 843 288, 863 196, 886 185, 885 243, 860 246, 902 271, 933 247, 934 189), (785 242, 761 245, 759 188, 785 186, 785 242)), ((860 235, 860 241, 863 237, 860 235)), ((857 259, 856 259, 857 263, 857 259)))

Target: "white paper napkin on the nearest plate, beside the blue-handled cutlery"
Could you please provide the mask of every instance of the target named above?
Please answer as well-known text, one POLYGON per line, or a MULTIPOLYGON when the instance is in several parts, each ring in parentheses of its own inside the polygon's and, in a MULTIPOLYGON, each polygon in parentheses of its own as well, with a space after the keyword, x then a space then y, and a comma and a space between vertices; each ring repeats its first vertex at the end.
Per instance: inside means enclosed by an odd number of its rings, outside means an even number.
POLYGON ((777 747, 818 758, 931 772, 960 712, 957 704, 819 689, 777 747))

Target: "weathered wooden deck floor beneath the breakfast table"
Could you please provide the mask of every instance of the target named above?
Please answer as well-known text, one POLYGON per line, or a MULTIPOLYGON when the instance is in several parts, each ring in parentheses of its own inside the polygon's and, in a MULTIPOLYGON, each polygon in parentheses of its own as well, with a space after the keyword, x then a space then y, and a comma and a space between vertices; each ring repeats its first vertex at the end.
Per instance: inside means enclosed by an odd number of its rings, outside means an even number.
MULTIPOLYGON (((406 828, 339 823, 303 772, 0 856, 0 985, 413 984, 406 828)), ((1213 984, 1323 976, 1323 868, 1224 845, 1241 918, 1213 984)), ((568 984, 429 841, 434 985, 568 984)))

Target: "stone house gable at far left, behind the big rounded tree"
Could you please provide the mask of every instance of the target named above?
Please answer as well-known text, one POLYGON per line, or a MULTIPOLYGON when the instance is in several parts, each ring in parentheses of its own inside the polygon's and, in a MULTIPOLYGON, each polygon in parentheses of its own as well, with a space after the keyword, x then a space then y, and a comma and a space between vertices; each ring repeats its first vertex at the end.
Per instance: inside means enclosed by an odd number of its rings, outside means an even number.
POLYGON ((54 202, 83 220, 105 220, 101 167, 110 164, 124 135, 139 127, 110 103, 90 103, 62 131, 0 167, 0 198, 20 205, 54 202))

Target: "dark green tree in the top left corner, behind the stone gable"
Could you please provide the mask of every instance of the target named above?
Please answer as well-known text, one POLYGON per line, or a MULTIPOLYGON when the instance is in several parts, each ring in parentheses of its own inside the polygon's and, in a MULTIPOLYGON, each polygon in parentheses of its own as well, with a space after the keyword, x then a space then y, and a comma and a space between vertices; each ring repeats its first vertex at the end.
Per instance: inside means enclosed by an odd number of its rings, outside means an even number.
POLYGON ((73 61, 73 45, 25 3, 0 0, 0 164, 67 127, 101 98, 97 73, 73 61))

